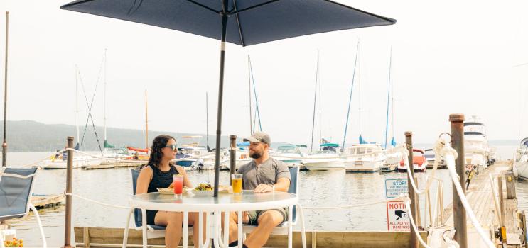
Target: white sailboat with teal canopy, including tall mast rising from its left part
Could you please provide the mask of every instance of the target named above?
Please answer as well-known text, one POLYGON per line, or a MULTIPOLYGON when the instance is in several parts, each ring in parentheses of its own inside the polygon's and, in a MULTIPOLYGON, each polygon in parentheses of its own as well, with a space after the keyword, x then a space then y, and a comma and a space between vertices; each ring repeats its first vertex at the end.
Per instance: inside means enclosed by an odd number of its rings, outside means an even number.
MULTIPOLYGON (((343 169, 345 168, 343 164, 343 159, 339 157, 339 144, 328 142, 328 140, 325 140, 323 137, 320 137, 320 145, 319 150, 316 152, 313 152, 313 133, 315 130, 315 123, 316 123, 316 103, 317 103, 317 88, 320 86, 319 82, 319 51, 317 52, 317 67, 316 67, 316 86, 315 86, 315 93, 313 97, 313 119, 312 119, 312 137, 311 137, 311 144, 310 144, 310 150, 311 154, 308 154, 308 156, 303 157, 302 163, 304 165, 304 168, 308 171, 325 171, 325 170, 333 170, 333 169, 343 169)), ((319 103, 320 106, 320 103, 319 103)), ((320 108, 319 108, 319 116, 320 116, 320 108)), ((320 132, 322 136, 322 132, 320 132)))

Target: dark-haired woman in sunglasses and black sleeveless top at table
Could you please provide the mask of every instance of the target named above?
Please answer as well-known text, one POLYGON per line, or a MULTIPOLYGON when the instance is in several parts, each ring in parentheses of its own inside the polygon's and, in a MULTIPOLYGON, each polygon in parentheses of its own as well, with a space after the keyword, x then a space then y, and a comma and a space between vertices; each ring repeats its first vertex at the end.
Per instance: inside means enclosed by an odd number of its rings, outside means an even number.
MULTIPOLYGON (((174 174, 183 175, 183 186, 193 188, 185 169, 170 163, 176 152, 178 152, 178 147, 174 137, 159 135, 154 138, 149 164, 139 173, 136 194, 157 192, 157 188, 168 188, 173 184, 174 174)), ((182 235, 183 213, 146 210, 146 222, 149 225, 166 226, 166 247, 178 247, 182 235)), ((189 225, 193 225, 193 233, 198 233, 198 213, 189 213, 189 225), (197 225, 194 225, 195 223, 197 225)), ((203 227, 205 233, 205 221, 203 227)), ((198 244, 198 235, 193 235, 193 242, 198 244)))

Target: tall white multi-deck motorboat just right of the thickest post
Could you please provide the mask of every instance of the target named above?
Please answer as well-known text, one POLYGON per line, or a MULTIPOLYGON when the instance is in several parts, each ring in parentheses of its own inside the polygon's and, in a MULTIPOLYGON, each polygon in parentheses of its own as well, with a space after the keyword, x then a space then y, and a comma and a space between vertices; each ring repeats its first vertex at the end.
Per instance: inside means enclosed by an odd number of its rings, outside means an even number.
POLYGON ((486 168, 490 158, 485 125, 475 115, 464 122, 465 164, 486 168))

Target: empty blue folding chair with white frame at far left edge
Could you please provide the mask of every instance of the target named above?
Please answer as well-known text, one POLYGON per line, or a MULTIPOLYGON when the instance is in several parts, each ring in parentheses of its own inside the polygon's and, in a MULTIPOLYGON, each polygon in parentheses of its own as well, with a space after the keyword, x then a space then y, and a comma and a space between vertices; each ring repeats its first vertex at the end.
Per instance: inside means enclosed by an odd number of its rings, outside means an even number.
MULTIPOLYGON (((33 182, 37 168, 15 169, 0 167, 0 222, 15 218, 25 218, 31 209, 41 231, 42 246, 48 247, 42 228, 41 217, 33 204, 33 182)), ((4 238, 0 235, 0 247, 4 248, 4 238)))

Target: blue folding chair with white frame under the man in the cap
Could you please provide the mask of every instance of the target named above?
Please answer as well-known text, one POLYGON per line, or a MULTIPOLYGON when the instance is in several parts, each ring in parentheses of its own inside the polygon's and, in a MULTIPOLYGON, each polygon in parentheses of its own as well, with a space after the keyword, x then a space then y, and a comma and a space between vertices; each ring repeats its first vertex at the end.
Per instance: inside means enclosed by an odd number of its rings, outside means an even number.
MULTIPOLYGON (((301 167, 291 167, 290 168, 290 187, 288 188, 288 193, 294 193, 297 196, 299 196, 298 193, 298 184, 299 184, 299 170, 301 167)), ((285 220, 281 225, 274 228, 274 230, 271 232, 272 235, 288 235, 288 247, 292 247, 292 239, 293 234, 291 233, 291 229, 293 229, 293 226, 297 225, 297 212, 299 213, 299 221, 301 222, 301 239, 303 241, 303 248, 306 248, 306 232, 304 229, 304 216, 303 216, 303 210, 301 209, 300 205, 293 205, 293 209, 291 210, 292 213, 292 222, 289 223, 288 220, 285 220)), ((244 232, 244 236, 246 233, 252 232, 256 226, 254 225, 243 225, 242 232, 244 232)), ((244 242, 242 240, 242 242, 244 242)))

